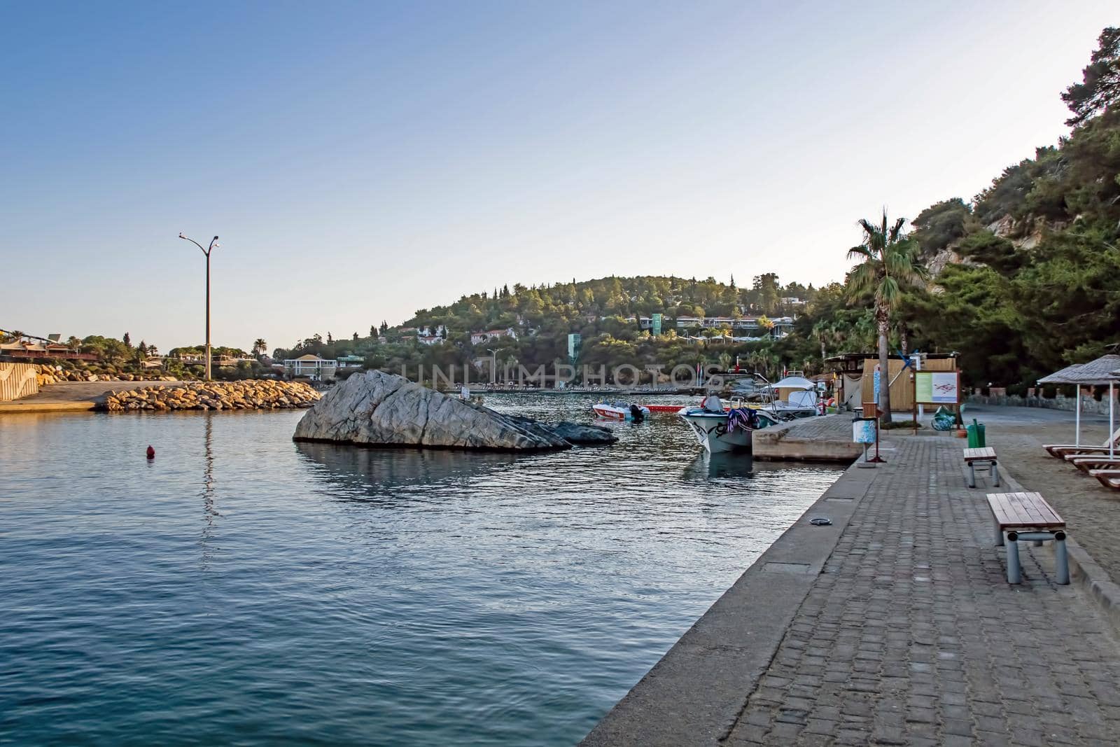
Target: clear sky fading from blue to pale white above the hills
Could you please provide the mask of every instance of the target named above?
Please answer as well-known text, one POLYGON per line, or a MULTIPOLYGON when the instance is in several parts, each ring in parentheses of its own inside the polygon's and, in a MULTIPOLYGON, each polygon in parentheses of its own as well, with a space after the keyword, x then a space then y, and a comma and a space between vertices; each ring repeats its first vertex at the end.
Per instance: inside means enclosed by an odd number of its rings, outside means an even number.
POLYGON ((0 7, 0 328, 346 337, 515 282, 842 280, 1068 130, 1113 1, 0 7))

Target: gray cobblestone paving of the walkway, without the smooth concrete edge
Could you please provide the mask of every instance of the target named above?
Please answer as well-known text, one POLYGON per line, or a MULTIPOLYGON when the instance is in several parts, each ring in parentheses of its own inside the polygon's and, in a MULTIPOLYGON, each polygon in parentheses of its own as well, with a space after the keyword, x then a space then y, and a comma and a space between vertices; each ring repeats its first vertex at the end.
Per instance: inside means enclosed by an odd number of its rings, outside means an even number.
POLYGON ((725 741, 1120 743, 1120 646, 1093 603, 1026 542, 1007 583, 959 439, 897 447, 725 741))

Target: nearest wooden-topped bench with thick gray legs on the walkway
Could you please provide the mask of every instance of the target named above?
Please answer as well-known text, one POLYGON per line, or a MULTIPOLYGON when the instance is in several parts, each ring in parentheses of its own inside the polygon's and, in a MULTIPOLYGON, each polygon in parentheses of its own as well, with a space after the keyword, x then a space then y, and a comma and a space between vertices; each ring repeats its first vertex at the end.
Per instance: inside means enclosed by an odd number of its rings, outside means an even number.
POLYGON ((1046 503, 1039 493, 989 493, 988 507, 991 508, 996 529, 996 545, 1007 540, 1007 582, 1019 583, 1023 571, 1019 566, 1019 540, 1034 540, 1036 544, 1054 542, 1054 560, 1057 582, 1070 582, 1070 559, 1065 552, 1065 521, 1046 503))

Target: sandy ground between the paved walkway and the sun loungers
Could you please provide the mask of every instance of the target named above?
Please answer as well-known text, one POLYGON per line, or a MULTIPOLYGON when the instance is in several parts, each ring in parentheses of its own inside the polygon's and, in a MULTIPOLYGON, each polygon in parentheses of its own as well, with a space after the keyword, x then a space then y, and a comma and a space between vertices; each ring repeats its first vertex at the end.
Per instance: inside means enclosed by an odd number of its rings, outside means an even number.
MULTIPOLYGON (((1067 522, 1070 535, 1089 551, 1113 581, 1120 580, 1120 543, 1117 542, 1120 533, 1120 492, 1104 487, 1095 478, 1062 459, 1055 459, 1042 448, 1043 443, 1073 442, 1074 413, 1035 408, 967 405, 964 414, 967 422, 977 418, 984 423, 987 445, 996 448, 1000 466, 1026 489, 1042 493, 1067 522)), ((1120 412, 1117 417, 1120 422, 1120 412)), ((1081 442, 1100 445, 1108 437, 1108 417, 1083 417, 1081 442)), ((977 475, 978 489, 990 487, 987 475, 981 479, 981 474, 977 475)))

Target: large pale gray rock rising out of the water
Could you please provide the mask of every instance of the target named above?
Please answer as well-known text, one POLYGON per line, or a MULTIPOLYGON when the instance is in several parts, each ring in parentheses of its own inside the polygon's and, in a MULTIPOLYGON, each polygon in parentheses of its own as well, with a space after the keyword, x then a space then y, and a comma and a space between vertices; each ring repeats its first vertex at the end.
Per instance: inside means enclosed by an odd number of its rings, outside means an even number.
POLYGON ((552 431, 386 374, 336 384, 296 426, 297 441, 528 451, 567 449, 552 431))

